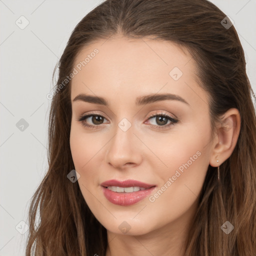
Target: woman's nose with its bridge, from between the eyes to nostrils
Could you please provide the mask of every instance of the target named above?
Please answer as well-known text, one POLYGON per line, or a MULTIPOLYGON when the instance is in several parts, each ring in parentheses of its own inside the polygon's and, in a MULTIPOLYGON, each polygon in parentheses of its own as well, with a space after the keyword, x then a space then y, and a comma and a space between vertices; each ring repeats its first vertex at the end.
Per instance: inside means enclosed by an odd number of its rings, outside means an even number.
POLYGON ((141 160, 139 153, 139 141, 133 134, 134 125, 127 118, 122 118, 114 129, 115 135, 109 141, 106 160, 115 167, 121 167, 125 163, 138 164, 141 160))

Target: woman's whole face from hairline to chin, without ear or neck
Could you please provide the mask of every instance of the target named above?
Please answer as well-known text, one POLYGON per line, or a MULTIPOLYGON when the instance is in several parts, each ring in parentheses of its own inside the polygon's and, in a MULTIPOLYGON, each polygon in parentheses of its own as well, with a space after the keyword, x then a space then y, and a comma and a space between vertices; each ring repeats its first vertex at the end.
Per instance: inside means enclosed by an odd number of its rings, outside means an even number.
POLYGON ((92 213, 113 233, 182 229, 212 153, 191 56, 167 41, 114 37, 84 47, 72 76, 70 149, 92 213))

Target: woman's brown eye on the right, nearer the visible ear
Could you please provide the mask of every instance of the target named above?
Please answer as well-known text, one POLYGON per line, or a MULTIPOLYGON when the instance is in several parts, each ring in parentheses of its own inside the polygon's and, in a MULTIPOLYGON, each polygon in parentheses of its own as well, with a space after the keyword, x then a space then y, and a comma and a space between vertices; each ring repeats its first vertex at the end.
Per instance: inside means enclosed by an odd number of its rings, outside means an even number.
MULTIPOLYGON (((170 115, 166 113, 152 113, 149 115, 148 120, 154 119, 155 124, 149 124, 150 127, 156 128, 156 129, 167 129, 169 126, 174 125, 178 122, 176 118, 171 117, 170 115), (169 121, 169 123, 168 123, 169 121), (167 125, 166 125, 167 124, 167 125)), ((147 121, 148 122, 148 121, 147 121)))

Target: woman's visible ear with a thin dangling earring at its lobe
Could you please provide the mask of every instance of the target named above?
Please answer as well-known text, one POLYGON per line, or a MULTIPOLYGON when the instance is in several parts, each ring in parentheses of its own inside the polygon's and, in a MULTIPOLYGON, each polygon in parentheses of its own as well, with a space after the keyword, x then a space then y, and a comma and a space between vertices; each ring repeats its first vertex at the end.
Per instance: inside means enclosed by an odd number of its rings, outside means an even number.
POLYGON ((240 122, 240 113, 236 108, 230 108, 222 115, 212 143, 211 166, 219 166, 231 155, 240 132, 240 122))

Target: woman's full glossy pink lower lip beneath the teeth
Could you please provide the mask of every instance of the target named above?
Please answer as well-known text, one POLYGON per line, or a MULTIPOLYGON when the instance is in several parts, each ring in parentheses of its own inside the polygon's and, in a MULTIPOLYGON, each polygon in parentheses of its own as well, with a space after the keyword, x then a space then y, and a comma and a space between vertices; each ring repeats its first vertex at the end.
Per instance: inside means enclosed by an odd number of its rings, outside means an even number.
POLYGON ((144 199, 147 195, 149 195, 152 192, 155 186, 152 186, 144 190, 130 192, 130 193, 114 192, 104 186, 102 186, 102 188, 103 188, 103 193, 108 201, 114 204, 126 206, 126 205, 134 204, 144 199))

